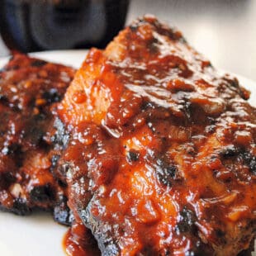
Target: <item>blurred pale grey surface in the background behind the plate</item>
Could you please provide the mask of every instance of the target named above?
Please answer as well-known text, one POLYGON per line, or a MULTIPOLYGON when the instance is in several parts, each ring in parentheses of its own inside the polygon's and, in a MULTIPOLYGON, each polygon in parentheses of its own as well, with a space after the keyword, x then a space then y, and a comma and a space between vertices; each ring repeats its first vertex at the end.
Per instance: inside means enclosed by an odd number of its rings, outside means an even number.
POLYGON ((217 68, 256 81, 256 0, 130 0, 126 24, 145 13, 177 26, 217 68))

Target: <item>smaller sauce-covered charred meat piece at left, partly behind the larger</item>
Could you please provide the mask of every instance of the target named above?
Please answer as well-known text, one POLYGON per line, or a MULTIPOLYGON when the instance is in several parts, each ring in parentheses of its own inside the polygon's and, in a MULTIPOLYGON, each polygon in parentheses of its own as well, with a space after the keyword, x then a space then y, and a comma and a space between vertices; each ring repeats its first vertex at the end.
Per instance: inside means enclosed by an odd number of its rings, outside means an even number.
POLYGON ((64 96, 74 71, 20 54, 1 69, 2 210, 25 215, 35 208, 55 209, 55 220, 69 221, 64 187, 53 175, 60 147, 53 126, 58 125, 55 104, 64 96))

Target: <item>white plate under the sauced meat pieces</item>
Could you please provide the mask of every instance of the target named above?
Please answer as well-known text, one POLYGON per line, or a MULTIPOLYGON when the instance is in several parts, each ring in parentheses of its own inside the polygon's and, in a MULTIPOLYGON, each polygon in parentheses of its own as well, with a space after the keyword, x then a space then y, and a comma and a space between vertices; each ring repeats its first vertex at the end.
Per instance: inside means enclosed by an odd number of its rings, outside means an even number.
MULTIPOLYGON (((78 68, 86 50, 59 50, 33 54, 53 62, 78 68)), ((7 58, 0 59, 0 68, 7 58)), ((236 75, 239 82, 252 94, 250 103, 256 107, 256 83, 236 75)), ((62 239, 66 227, 58 225, 50 214, 37 213, 32 216, 14 216, 0 212, 0 255, 1 256, 58 256, 64 255, 62 239)))

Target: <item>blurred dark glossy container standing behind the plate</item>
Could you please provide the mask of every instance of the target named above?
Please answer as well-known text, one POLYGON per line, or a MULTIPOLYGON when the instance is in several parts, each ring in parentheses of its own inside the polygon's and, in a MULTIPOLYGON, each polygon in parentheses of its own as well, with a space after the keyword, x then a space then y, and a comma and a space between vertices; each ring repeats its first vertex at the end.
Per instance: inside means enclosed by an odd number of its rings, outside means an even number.
POLYGON ((126 21, 129 0, 0 0, 0 32, 23 52, 103 48, 126 21))

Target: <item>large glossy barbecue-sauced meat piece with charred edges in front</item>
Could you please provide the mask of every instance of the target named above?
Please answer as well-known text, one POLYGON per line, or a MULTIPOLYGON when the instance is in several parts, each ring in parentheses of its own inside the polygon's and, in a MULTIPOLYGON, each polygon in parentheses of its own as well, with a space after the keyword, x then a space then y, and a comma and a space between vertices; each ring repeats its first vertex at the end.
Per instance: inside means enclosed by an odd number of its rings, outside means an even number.
POLYGON ((254 239, 256 111, 154 17, 92 49, 59 106, 69 207, 102 255, 236 255, 254 239))

